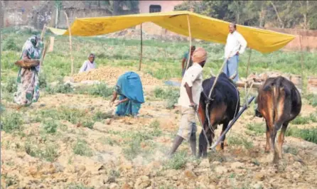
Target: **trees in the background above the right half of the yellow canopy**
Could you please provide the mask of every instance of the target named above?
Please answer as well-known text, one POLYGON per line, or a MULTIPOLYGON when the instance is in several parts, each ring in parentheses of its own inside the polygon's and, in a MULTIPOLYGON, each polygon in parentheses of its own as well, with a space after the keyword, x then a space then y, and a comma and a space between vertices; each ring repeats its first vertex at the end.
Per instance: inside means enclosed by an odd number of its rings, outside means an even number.
POLYGON ((186 1, 175 10, 189 11, 190 7, 195 13, 247 26, 317 28, 316 1, 186 1))

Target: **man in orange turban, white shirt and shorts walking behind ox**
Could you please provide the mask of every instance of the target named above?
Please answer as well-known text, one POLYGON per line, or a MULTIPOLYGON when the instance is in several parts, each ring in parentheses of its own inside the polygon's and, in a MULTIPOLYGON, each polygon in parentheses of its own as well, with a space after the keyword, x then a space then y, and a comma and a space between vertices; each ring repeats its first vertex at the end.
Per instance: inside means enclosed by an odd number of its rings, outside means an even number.
POLYGON ((193 156, 196 155, 196 131, 195 110, 197 110, 202 92, 203 66, 207 59, 207 53, 203 48, 197 48, 193 53, 193 65, 186 70, 180 89, 178 105, 181 106, 181 121, 178 133, 174 139, 171 156, 185 139, 190 142, 193 156))

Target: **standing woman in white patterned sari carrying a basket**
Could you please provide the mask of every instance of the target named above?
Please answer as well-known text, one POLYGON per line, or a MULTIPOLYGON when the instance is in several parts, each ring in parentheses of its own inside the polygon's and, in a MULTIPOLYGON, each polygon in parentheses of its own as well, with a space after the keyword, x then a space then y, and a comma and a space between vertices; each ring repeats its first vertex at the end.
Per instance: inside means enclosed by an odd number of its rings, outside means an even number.
MULTIPOLYGON (((42 49, 43 43, 41 43, 40 38, 32 36, 24 43, 20 60, 40 59, 42 49)), ((17 79, 18 89, 14 93, 14 102, 16 104, 28 107, 33 102, 38 102, 38 98, 40 97, 39 70, 39 64, 31 68, 19 68, 17 79)))

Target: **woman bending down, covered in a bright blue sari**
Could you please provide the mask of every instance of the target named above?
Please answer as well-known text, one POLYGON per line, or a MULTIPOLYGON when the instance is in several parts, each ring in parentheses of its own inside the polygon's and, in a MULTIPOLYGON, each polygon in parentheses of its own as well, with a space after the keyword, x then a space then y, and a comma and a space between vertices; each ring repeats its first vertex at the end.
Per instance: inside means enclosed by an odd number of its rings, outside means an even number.
POLYGON ((141 79, 136 72, 126 72, 119 77, 110 102, 111 105, 117 99, 117 95, 119 95, 119 101, 116 103, 115 114, 136 117, 139 114, 141 104, 144 103, 141 79))

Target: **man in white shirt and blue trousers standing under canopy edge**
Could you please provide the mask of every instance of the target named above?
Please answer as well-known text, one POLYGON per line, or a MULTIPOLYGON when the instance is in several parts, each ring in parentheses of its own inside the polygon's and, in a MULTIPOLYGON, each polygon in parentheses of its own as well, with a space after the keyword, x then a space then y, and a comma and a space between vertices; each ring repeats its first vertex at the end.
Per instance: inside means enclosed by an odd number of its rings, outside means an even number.
POLYGON ((227 43, 225 45, 225 58, 227 58, 227 63, 223 68, 223 72, 225 72, 225 75, 232 78, 234 82, 237 82, 237 80, 239 80, 239 55, 244 53, 245 48, 247 48, 247 41, 245 41, 245 38, 243 38, 243 36, 236 30, 237 26, 235 25, 235 23, 230 23, 230 33, 227 36, 227 43))

